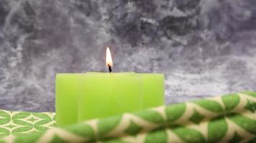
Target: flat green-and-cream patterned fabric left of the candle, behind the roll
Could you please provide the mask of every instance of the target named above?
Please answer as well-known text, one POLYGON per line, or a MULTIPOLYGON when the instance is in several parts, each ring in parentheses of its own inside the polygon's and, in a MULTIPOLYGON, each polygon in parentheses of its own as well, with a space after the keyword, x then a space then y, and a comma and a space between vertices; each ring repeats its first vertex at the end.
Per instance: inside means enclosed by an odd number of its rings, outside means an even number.
POLYGON ((55 127, 55 114, 49 112, 10 112, 0 110, 0 138, 42 132, 55 127))

